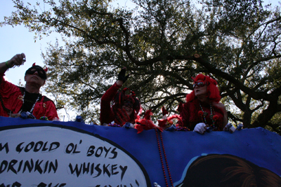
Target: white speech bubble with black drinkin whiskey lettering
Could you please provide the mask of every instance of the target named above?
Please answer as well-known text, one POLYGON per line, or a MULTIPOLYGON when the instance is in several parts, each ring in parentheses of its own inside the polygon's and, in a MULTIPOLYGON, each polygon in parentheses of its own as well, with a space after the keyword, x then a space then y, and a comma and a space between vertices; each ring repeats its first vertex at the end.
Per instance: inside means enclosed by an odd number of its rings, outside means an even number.
POLYGON ((150 186, 139 162, 107 139, 60 127, 0 131, 0 185, 150 186))

